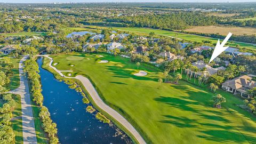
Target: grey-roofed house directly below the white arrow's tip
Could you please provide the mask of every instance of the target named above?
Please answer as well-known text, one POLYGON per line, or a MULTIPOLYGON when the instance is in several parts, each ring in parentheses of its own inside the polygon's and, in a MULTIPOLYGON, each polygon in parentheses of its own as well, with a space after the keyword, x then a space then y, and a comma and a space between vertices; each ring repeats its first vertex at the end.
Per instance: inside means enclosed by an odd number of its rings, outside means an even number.
MULTIPOLYGON (((196 74, 197 74, 197 77, 198 76, 201 76, 201 75, 204 75, 206 76, 206 73, 208 73, 209 75, 213 75, 215 73, 217 73, 219 70, 225 70, 226 68, 225 67, 218 67, 218 68, 213 68, 207 64, 204 63, 204 61, 196 61, 196 62, 193 62, 191 63, 193 66, 196 66, 198 69, 203 69, 204 67, 206 68, 206 71, 204 73, 202 73, 201 71, 198 71, 196 74)), ((190 70, 192 73, 193 71, 190 70)))

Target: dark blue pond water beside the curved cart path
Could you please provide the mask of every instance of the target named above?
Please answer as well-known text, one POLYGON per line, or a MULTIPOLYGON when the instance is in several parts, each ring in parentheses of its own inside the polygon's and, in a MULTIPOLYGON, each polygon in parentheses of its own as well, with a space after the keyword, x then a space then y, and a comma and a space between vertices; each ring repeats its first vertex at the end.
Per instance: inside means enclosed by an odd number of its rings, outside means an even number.
POLYGON ((61 143, 130 143, 129 138, 116 135, 116 126, 99 122, 95 116, 87 113, 82 95, 59 82, 53 74, 43 69, 43 58, 38 58, 44 106, 54 123, 57 123, 58 137, 61 143))

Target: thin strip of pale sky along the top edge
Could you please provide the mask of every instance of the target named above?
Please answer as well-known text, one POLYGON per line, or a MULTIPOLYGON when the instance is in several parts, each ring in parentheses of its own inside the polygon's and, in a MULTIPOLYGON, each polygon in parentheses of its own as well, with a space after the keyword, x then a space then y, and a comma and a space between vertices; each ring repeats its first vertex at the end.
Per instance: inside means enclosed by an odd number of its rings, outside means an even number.
POLYGON ((0 0, 5 3, 53 3, 53 2, 256 2, 256 0, 0 0))

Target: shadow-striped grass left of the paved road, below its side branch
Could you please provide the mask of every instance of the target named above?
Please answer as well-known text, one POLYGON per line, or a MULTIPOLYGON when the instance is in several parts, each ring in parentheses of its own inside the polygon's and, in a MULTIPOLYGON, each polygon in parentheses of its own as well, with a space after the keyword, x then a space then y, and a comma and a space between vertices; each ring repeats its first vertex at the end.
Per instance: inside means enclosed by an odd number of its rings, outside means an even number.
POLYGON ((23 134, 22 134, 22 111, 21 111, 21 100, 20 95, 13 94, 14 100, 16 101, 16 108, 12 112, 13 121, 12 129, 15 133, 15 143, 22 144, 23 143, 23 134))

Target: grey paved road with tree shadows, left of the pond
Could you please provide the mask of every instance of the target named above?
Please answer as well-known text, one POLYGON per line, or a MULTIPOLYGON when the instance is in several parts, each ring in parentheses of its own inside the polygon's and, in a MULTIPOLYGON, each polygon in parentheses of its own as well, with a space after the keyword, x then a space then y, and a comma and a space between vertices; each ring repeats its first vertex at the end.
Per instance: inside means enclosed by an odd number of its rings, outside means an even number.
POLYGON ((23 73, 22 63, 26 59, 28 59, 28 56, 23 57, 19 62, 20 86, 17 89, 10 91, 10 93, 19 94, 21 96, 23 143, 32 144, 37 143, 37 140, 33 111, 30 105, 28 81, 23 73))

